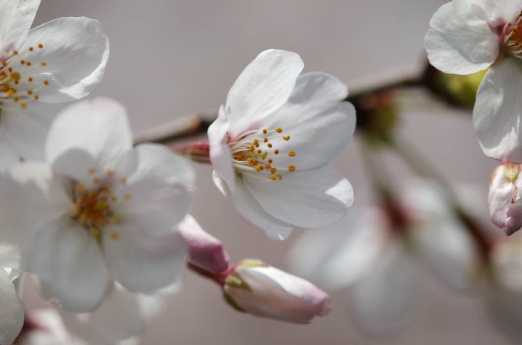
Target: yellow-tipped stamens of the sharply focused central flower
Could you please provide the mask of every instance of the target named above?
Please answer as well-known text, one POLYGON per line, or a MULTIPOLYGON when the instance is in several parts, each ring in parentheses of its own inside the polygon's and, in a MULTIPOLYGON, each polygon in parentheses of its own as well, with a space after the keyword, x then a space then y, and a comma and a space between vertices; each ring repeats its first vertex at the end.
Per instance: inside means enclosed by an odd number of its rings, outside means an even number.
MULTIPOLYGON (((248 131, 234 141, 228 142, 232 153, 232 165, 237 174, 246 174, 266 180, 282 180, 283 174, 287 171, 295 171, 295 166, 290 164, 288 167, 277 165, 277 158, 280 152, 274 144, 274 140, 289 141, 290 135, 279 135, 283 130, 253 130, 248 131)), ((295 152, 289 151, 289 157, 294 157, 295 152)))

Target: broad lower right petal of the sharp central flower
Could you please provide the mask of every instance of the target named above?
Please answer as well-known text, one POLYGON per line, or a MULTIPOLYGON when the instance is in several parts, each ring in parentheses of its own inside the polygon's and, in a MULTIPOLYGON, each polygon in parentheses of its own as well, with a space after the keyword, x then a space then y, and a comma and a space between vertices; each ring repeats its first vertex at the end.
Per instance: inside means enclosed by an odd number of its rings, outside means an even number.
POLYGON ((243 180, 265 211, 301 227, 332 224, 346 214, 353 201, 350 182, 330 166, 290 172, 276 181, 248 176, 243 180))

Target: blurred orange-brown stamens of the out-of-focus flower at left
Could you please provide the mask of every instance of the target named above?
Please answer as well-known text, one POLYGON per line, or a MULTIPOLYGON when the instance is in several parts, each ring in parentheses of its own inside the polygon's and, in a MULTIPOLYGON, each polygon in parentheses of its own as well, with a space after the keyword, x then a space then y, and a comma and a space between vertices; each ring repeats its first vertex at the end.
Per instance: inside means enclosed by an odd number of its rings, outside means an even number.
MULTIPOLYGON (((122 222, 122 218, 112 209, 112 205, 120 198, 111 192, 112 170, 105 172, 106 177, 103 177, 104 181, 95 175, 96 169, 89 168, 87 172, 93 176, 92 181, 95 187, 88 189, 80 182, 75 183, 73 187, 73 203, 70 205, 70 211, 73 220, 84 226, 100 243, 104 226, 122 222)), ((123 185, 127 182, 124 177, 118 181, 123 185)), ((125 193, 122 199, 131 200, 132 194, 125 193)), ((120 234, 116 231, 109 234, 111 239, 117 239, 119 236, 120 234)))

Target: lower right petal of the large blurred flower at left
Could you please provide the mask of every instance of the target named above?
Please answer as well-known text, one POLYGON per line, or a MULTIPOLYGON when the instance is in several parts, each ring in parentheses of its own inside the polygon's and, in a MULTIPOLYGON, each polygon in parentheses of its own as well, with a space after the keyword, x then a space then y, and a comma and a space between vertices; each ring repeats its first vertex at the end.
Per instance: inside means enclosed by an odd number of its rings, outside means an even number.
POLYGON ((181 277, 188 250, 180 233, 146 233, 153 215, 123 215, 120 225, 106 226, 102 248, 114 279, 131 292, 154 293, 181 277))

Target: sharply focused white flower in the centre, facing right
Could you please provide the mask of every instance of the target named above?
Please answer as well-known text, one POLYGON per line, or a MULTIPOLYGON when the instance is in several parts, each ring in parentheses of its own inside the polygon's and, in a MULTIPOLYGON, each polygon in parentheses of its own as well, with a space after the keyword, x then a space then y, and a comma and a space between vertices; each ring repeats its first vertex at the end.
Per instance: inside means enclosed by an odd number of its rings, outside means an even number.
POLYGON ((342 101, 348 90, 302 69, 298 54, 260 53, 208 129, 216 186, 245 221, 277 239, 293 226, 337 221, 353 200, 348 180, 329 166, 355 129, 355 110, 342 101))

